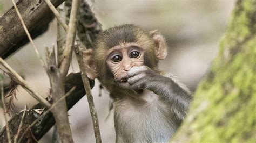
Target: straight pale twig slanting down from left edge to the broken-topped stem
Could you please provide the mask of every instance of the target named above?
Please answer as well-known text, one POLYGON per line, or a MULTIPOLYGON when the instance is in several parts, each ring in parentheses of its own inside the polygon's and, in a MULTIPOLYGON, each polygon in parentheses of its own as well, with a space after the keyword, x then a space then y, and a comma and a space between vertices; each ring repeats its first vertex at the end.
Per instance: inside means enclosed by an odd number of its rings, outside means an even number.
POLYGON ((43 96, 39 95, 36 91, 34 91, 29 85, 28 83, 26 83, 25 80, 23 80, 23 78, 21 76, 19 76, 19 74, 12 69, 8 63, 6 63, 2 58, 0 58, 0 63, 4 66, 5 69, 7 69, 17 80, 17 82, 19 83, 19 85, 21 85, 26 91, 29 92, 29 94, 35 98, 38 102, 40 102, 41 104, 43 104, 46 108, 50 108, 51 104, 46 101, 46 99, 44 99, 43 96))

